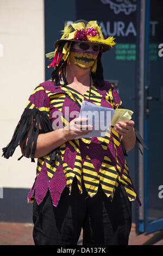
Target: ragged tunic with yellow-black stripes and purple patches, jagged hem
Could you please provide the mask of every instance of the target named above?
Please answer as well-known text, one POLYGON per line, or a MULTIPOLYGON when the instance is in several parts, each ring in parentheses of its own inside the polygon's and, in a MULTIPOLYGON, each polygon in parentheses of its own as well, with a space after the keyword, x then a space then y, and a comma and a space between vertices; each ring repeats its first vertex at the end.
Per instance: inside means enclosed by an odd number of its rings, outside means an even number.
MULTIPOLYGON (((61 122, 62 126, 65 127, 74 118, 74 116, 71 117, 71 113, 80 112, 83 100, 89 100, 98 106, 113 109, 118 108, 122 103, 115 87, 106 81, 102 88, 92 84, 91 90, 87 90, 82 95, 70 86, 64 84, 57 86, 48 80, 36 86, 29 96, 24 110, 28 111, 28 116, 32 115, 30 112, 37 112, 39 114, 37 122, 40 124, 41 121, 39 120, 41 119, 45 120, 45 123, 50 120, 52 127, 48 131, 53 131, 57 122, 61 122), (56 113, 60 113, 60 118, 56 118, 56 113)), ((45 126, 43 122, 42 126, 45 126)), ((33 141, 36 143, 38 134, 36 135, 35 130, 36 126, 33 129, 33 141)), ((42 128, 42 132, 47 132, 46 127, 42 128)), ((54 152, 37 159, 36 178, 28 194, 28 202, 33 203, 35 197, 37 204, 40 204, 49 190, 52 203, 57 206, 65 186, 70 188, 71 194, 72 181, 76 176, 80 193, 82 193, 83 179, 90 197, 95 196, 98 186, 101 184, 106 196, 112 200, 116 187, 122 182, 129 200, 137 200, 141 204, 130 179, 120 136, 112 127, 111 133, 106 132, 105 137, 72 139, 62 144, 54 152)))

